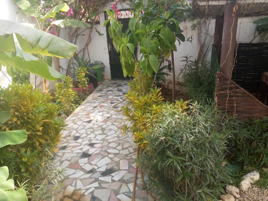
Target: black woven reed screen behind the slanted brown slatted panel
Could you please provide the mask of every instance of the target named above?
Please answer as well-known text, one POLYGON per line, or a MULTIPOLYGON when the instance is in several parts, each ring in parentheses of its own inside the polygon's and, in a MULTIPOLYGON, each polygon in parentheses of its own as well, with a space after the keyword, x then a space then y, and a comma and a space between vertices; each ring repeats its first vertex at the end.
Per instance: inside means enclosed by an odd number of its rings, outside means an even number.
POLYGON ((235 57, 232 80, 250 93, 258 92, 262 73, 268 72, 268 43, 238 43, 235 57))

